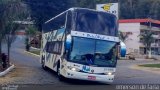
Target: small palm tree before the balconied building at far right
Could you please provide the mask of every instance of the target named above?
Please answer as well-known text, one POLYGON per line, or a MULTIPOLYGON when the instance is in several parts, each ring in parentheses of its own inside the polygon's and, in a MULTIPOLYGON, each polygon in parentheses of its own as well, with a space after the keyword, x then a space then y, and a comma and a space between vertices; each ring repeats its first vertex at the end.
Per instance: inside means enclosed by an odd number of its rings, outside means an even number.
POLYGON ((143 38, 142 43, 145 45, 147 52, 149 52, 147 58, 151 58, 151 44, 154 42, 153 32, 146 31, 140 34, 140 37, 143 38))

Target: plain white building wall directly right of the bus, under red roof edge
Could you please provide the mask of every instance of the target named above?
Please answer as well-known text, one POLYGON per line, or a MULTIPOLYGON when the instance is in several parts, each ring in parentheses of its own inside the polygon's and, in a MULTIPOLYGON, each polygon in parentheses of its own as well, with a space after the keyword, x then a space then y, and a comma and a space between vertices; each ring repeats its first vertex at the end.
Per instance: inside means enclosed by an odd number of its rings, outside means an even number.
POLYGON ((127 53, 135 52, 135 50, 139 53, 140 23, 120 23, 119 30, 122 32, 132 32, 125 41, 127 53))

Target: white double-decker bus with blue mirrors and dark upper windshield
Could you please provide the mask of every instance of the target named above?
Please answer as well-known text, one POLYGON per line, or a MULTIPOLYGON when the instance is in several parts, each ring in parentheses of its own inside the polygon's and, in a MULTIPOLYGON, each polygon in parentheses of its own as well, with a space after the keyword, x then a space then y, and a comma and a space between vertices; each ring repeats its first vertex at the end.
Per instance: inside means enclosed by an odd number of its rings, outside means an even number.
MULTIPOLYGON (((116 16, 71 8, 43 25, 41 64, 62 78, 113 82, 118 58, 116 16)), ((122 56, 125 55, 122 51, 122 56)))

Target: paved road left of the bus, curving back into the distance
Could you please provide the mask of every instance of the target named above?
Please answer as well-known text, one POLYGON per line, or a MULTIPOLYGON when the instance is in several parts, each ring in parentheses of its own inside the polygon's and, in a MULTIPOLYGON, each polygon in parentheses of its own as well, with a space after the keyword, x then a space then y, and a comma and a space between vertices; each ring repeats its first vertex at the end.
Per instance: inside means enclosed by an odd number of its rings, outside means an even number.
MULTIPOLYGON (((51 70, 43 70, 39 62, 39 57, 24 52, 24 39, 18 38, 11 49, 11 62, 16 68, 4 77, 0 77, 0 84, 54 84, 54 85, 70 85, 70 84, 99 84, 93 82, 81 82, 69 80, 60 82, 56 73, 51 70)), ((5 45, 3 51, 6 52, 5 45)))

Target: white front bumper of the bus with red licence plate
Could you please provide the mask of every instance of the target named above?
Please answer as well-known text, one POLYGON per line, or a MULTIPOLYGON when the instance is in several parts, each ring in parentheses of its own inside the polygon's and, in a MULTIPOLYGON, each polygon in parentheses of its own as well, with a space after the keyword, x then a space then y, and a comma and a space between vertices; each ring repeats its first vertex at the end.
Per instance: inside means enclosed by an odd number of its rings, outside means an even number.
POLYGON ((112 83, 114 80, 114 75, 98 75, 98 74, 76 72, 72 70, 66 70, 64 77, 70 79, 98 81, 103 83, 112 83))

